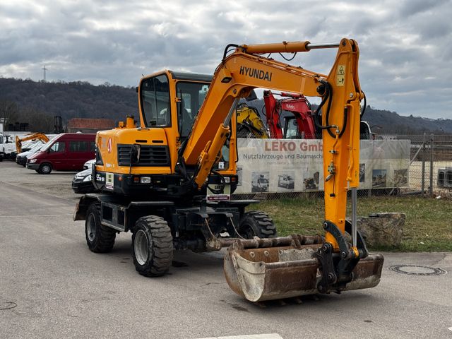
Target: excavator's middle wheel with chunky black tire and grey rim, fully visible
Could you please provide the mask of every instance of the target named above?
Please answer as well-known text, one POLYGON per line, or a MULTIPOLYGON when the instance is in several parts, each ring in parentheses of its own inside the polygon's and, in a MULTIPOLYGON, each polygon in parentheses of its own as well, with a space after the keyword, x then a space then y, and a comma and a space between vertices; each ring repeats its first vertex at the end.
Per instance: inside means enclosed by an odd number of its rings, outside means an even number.
POLYGON ((168 223, 156 215, 139 218, 132 234, 135 269, 146 277, 159 277, 172 262, 172 235, 168 223))

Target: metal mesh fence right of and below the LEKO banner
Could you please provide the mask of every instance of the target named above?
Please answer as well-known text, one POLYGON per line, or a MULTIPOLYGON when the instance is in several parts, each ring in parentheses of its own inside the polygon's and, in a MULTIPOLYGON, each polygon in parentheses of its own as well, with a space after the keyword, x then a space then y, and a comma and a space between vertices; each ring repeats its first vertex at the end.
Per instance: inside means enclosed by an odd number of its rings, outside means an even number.
MULTIPOLYGON (((383 187, 359 189, 359 196, 452 196, 452 135, 397 135, 381 134, 379 139, 410 141, 408 164, 408 184, 403 187, 383 187)), ((406 179, 405 179, 406 180, 406 179)), ((323 191, 282 192, 240 194, 235 198, 275 198, 322 197, 323 191)))

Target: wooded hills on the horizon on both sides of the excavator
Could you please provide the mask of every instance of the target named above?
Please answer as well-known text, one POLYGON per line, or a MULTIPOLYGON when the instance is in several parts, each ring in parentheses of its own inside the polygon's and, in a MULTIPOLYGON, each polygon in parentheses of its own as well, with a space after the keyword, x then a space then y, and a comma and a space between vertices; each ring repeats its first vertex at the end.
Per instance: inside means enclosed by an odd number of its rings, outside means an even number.
MULTIPOLYGON (((263 100, 249 102, 263 112, 263 100)), ((29 79, 0 78, 0 119, 8 124, 28 123, 30 131, 52 132, 54 116, 63 123, 69 119, 108 118, 124 120, 127 114, 138 118, 138 100, 135 88, 117 85, 91 85, 87 82, 36 82, 29 79)), ((265 121, 264 114, 261 117, 265 121)), ((368 106, 364 120, 370 126, 379 126, 376 133, 452 133, 451 119, 403 117, 396 112, 368 106)))

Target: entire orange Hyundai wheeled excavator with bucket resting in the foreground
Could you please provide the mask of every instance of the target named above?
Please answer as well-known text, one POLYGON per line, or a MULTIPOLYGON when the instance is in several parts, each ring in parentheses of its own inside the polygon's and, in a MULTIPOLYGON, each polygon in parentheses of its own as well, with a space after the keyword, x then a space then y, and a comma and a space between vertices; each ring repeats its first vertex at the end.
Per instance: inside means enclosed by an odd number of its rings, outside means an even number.
POLYGON ((97 133, 92 177, 102 194, 83 196, 74 214, 85 220, 90 250, 110 251, 116 233, 131 230, 136 270, 157 276, 169 269, 173 249, 230 246, 227 283, 253 302, 376 286, 383 256, 369 255, 356 224, 364 98, 358 58, 349 39, 229 44, 213 78, 172 71, 142 78, 139 125, 128 117, 97 133), (328 75, 263 57, 324 48, 338 49, 328 75), (276 237, 266 213, 245 212, 256 201, 230 198, 237 186, 234 112, 254 88, 321 97, 314 115, 323 139, 324 237, 276 237))

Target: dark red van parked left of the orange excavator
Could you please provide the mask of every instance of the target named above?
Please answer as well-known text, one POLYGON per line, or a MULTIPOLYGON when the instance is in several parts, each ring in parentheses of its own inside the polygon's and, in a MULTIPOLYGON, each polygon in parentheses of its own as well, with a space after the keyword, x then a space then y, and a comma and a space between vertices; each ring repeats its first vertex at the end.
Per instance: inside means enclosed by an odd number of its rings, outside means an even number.
POLYGON ((31 155, 27 168, 40 174, 57 171, 80 171, 95 157, 95 134, 63 133, 53 138, 40 152, 31 155))

